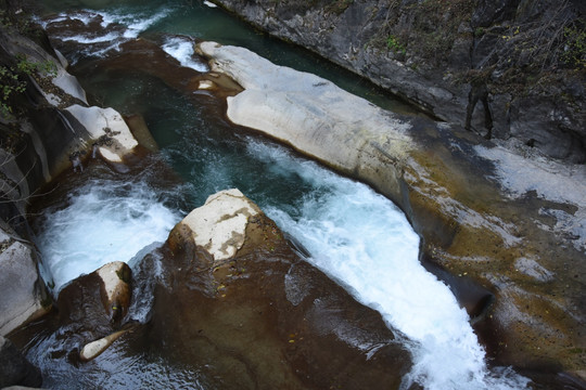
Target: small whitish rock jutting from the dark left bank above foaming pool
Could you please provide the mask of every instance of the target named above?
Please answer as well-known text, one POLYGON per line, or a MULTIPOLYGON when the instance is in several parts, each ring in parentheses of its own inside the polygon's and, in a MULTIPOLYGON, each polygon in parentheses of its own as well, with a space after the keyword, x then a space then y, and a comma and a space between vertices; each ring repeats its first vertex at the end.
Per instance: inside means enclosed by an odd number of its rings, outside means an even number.
POLYGON ((90 133, 93 140, 100 136, 112 139, 112 145, 100 145, 102 156, 112 162, 122 162, 123 157, 138 145, 122 115, 114 108, 84 107, 78 104, 66 108, 90 133))

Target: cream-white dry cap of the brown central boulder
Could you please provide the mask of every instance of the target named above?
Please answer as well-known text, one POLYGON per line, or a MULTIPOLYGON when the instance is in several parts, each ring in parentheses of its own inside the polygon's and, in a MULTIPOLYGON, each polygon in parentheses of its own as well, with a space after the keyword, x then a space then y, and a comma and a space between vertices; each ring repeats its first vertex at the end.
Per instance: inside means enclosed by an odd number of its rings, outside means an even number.
POLYGON ((233 188, 211 195, 178 225, 189 227, 195 244, 219 261, 233 257, 242 247, 249 218, 258 213, 258 207, 233 188))

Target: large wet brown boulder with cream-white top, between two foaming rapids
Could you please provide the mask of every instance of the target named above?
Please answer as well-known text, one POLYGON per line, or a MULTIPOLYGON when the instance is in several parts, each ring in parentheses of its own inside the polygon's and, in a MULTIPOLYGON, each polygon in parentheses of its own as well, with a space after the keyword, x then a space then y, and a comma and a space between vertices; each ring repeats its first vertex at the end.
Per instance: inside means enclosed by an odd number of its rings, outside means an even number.
POLYGON ((381 315, 302 261, 240 191, 169 234, 150 348, 224 389, 398 388, 410 367, 381 315), (189 324, 189 326, 186 326, 189 324))

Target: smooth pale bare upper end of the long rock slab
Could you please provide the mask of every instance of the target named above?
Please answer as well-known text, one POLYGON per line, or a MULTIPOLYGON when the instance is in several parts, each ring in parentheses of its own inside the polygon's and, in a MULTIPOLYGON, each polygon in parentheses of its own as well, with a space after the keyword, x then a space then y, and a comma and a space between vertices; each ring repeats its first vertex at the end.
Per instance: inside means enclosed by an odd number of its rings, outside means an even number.
POLYGON ((228 118, 260 130, 346 172, 400 159, 412 147, 410 126, 311 74, 277 66, 237 47, 202 42, 211 68, 244 87, 228 101, 228 118), (300 132, 303 129, 303 132, 300 132))

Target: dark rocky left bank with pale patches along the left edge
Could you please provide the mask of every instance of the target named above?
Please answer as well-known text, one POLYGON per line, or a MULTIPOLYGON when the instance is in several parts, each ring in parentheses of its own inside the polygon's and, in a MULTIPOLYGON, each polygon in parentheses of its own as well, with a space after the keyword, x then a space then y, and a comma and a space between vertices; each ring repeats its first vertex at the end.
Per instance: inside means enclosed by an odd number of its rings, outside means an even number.
POLYGON ((30 197, 66 169, 82 171, 92 154, 116 164, 138 146, 118 113, 88 106, 84 89, 44 32, 29 27, 29 36, 21 34, 15 26, 27 16, 12 6, 8 12, 11 23, 0 26, 1 82, 10 90, 0 108, 0 214, 13 238, 2 248, 2 335, 44 311, 38 259, 26 242, 30 197))

